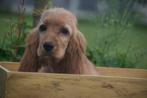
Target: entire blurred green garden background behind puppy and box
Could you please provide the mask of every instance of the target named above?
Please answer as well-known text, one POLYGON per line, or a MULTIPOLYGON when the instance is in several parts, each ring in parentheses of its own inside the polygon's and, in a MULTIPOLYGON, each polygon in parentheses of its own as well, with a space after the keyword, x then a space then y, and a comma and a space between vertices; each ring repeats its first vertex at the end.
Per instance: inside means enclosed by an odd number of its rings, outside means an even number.
POLYGON ((78 18, 96 66, 147 69, 147 0, 0 0, 0 61, 19 61, 27 33, 48 8, 78 18))

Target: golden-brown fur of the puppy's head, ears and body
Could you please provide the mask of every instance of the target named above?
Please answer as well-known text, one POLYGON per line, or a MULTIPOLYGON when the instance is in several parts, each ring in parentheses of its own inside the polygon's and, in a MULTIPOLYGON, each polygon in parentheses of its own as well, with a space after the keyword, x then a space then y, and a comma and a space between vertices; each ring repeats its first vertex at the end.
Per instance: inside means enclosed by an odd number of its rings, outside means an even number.
POLYGON ((76 25, 76 17, 63 8, 45 11, 28 34, 19 71, 96 75, 94 65, 85 56, 86 40, 76 25), (39 31, 42 24, 47 26, 43 32, 39 31), (68 31, 60 31, 62 27, 68 31), (55 46, 51 53, 43 49, 48 41, 55 46))

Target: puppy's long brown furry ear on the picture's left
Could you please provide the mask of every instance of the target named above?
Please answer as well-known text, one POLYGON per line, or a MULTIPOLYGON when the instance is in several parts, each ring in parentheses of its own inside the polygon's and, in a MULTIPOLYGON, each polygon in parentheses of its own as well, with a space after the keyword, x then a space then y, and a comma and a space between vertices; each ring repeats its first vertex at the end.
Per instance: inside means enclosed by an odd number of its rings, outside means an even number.
POLYGON ((38 70, 37 48, 39 44, 39 36, 37 30, 33 30, 27 37, 27 45, 23 58, 20 62, 19 71, 36 72, 38 70))

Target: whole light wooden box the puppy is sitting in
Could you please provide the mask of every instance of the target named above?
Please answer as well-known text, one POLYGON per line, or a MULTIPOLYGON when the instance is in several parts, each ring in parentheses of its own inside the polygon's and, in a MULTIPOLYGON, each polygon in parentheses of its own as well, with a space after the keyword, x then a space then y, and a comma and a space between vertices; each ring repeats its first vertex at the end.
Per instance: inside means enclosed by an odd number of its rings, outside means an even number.
POLYGON ((17 72, 0 63, 0 98, 147 98, 147 70, 97 68, 100 76, 17 72))

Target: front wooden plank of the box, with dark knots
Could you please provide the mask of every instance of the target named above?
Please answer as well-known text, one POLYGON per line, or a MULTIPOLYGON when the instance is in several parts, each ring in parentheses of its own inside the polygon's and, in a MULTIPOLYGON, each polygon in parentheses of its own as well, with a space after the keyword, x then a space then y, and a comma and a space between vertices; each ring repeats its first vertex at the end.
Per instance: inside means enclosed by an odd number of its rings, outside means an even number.
POLYGON ((147 79, 13 72, 6 98, 147 98, 147 79))

